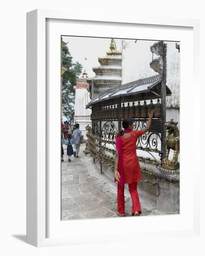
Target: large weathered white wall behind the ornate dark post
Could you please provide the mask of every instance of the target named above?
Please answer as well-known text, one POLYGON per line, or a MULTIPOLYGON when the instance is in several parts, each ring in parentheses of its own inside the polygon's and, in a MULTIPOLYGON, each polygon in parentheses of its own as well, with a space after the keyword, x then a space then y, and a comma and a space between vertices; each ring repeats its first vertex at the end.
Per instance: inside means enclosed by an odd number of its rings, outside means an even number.
MULTIPOLYGON (((149 63, 153 53, 150 51, 156 41, 151 40, 123 40, 122 42, 122 84, 135 81, 156 73, 149 63)), ((180 53, 176 49, 176 42, 167 43, 167 86, 172 95, 167 96, 167 121, 173 117, 178 121, 179 128, 179 96, 180 96, 180 53)), ((179 42, 177 42, 179 44, 179 42)), ((153 59, 157 58, 154 54, 153 59)), ((153 100, 156 103, 156 100, 153 100)))

